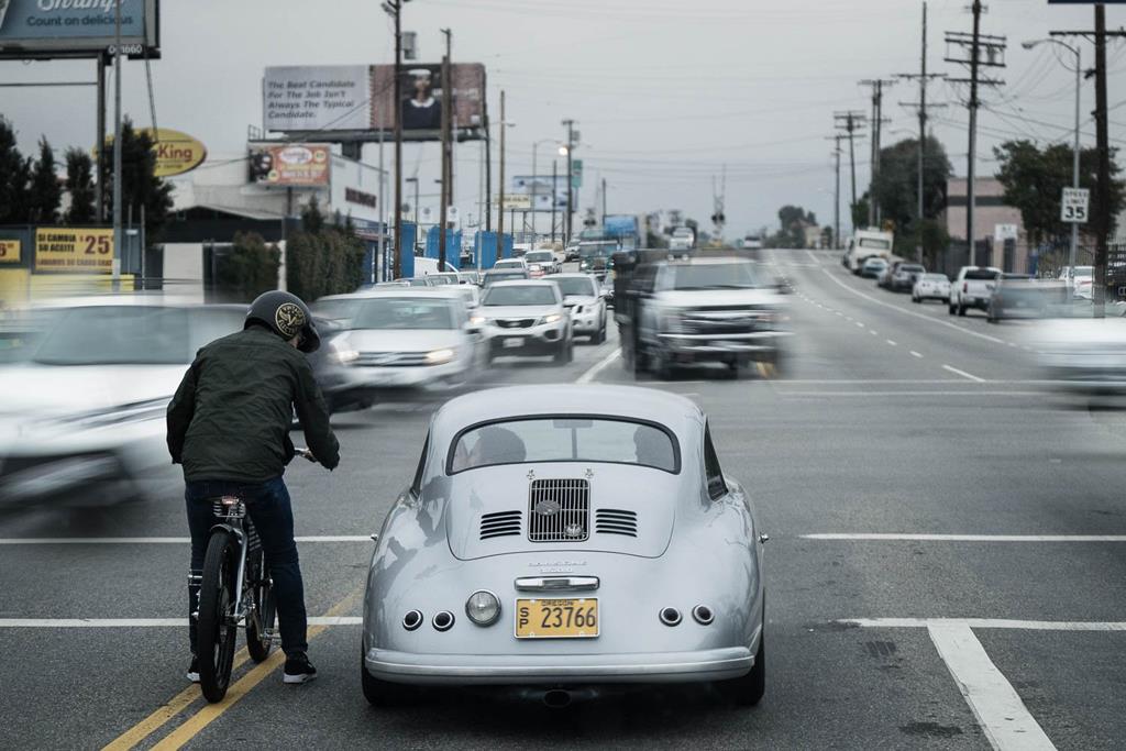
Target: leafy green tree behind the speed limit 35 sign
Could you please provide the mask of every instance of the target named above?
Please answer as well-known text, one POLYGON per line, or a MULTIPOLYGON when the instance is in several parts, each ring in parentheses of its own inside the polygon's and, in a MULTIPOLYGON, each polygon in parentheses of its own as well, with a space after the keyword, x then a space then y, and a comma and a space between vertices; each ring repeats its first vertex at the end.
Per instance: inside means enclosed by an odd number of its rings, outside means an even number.
MULTIPOLYGON (((1123 181, 1117 179, 1117 149, 1110 151, 1110 227, 1123 209, 1123 181)), ((999 168, 997 179, 1004 186, 1004 203, 1020 209, 1035 244, 1062 242, 1071 234, 1071 225, 1060 221, 1060 200, 1064 188, 1072 187, 1074 153, 1064 144, 1049 144, 1043 150, 1030 141, 1007 141, 993 149, 999 168)), ((1091 191, 1091 206, 1099 204, 1098 151, 1079 152, 1079 185, 1091 191)), ((1089 225, 1089 226, 1093 226, 1089 225)))

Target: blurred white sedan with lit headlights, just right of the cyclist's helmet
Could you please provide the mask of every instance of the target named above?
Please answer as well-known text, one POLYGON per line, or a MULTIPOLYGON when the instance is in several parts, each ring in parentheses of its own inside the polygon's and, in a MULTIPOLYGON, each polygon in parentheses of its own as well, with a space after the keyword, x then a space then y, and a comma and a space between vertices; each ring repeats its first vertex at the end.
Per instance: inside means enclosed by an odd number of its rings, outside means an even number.
MULTIPOLYGON (((325 345, 327 365, 318 374, 336 403, 369 401, 387 388, 462 383, 476 358, 465 289, 379 289, 337 295, 333 306, 351 305, 336 319, 343 330, 325 345)), ((313 306, 320 314, 321 304, 313 306)))

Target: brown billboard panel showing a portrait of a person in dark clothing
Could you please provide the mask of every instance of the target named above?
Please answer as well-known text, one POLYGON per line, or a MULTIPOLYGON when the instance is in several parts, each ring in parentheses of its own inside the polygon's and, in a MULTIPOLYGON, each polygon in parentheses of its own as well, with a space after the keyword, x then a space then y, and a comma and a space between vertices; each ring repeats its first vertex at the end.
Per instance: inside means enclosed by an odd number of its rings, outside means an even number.
MULTIPOLYGON (((485 120, 485 66, 481 63, 453 63, 454 126, 457 129, 482 127, 485 120)), ((446 82, 441 64, 408 63, 402 66, 402 100, 397 104, 403 118, 403 137, 408 141, 441 138, 441 98, 446 82)), ((372 66, 370 127, 391 131, 396 106, 395 66, 372 66)))

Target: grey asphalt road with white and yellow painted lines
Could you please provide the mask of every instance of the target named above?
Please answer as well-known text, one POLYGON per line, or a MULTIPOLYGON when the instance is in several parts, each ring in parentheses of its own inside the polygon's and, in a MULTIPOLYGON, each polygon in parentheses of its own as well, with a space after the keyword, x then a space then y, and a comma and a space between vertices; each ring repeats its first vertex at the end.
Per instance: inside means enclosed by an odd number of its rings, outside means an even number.
MULTIPOLYGON (((311 640, 316 682, 244 664, 205 707, 185 690, 185 629, 135 620, 182 617, 186 545, 92 542, 184 537, 170 498, 0 517, 0 748, 1121 748, 1126 413, 1045 393, 1019 325, 914 305, 829 253, 768 257, 796 290, 784 377, 643 384, 705 408, 771 535, 760 706, 688 687, 566 710, 461 691, 375 710, 346 622, 311 640)), ((472 388, 632 383, 616 341, 565 367, 501 360, 472 388)), ((287 475, 298 535, 376 531, 435 406, 334 418, 340 468, 287 475)), ((370 543, 300 548, 310 614, 358 616, 370 543)))

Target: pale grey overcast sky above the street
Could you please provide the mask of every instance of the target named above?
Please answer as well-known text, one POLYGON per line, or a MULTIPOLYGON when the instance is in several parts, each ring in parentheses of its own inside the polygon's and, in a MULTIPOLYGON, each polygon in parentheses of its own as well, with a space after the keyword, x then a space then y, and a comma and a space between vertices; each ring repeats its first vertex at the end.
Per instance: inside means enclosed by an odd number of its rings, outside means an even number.
MULTIPOLYGON (((180 0, 162 3, 163 60, 154 62, 158 123, 190 133, 212 154, 239 154, 247 128, 261 122, 260 81, 267 65, 386 63, 393 38, 378 0, 180 0)), ((963 77, 942 61, 944 33, 971 29, 968 0, 929 3, 929 66, 963 77)), ((1073 74, 1048 45, 1025 51, 1020 42, 1051 29, 1093 25, 1090 6, 1047 0, 991 0, 982 32, 1007 36, 1006 86, 985 90, 980 116, 978 175, 992 172, 991 147, 1010 137, 1065 140, 1073 111, 1073 74)), ((727 235, 777 225, 783 204, 832 222, 833 113, 870 109, 860 79, 918 72, 922 3, 915 0, 413 0, 404 30, 418 33, 420 61, 440 60, 441 35, 454 33, 454 60, 482 62, 489 107, 499 119, 499 92, 508 99, 511 176, 530 172, 533 143, 539 171, 549 172, 563 118, 582 134, 586 184, 580 206, 592 206, 593 186, 609 185, 610 213, 680 208, 706 220, 713 177, 726 164, 727 235)), ((1126 24, 1126 6, 1109 6, 1108 26, 1126 24)), ((1093 61, 1083 42, 1084 65, 1093 61)), ((1109 100, 1126 99, 1126 43, 1108 47, 1109 100)), ((0 62, 5 81, 92 78, 93 63, 0 62)), ((143 63, 126 63, 125 107, 150 122, 143 63)), ((11 119, 30 153, 45 134, 57 147, 88 149, 95 141, 92 88, 0 89, 0 114, 11 119)), ((955 164, 966 170, 963 87, 936 83, 929 99, 935 133, 955 164)), ((903 82, 886 91, 885 145, 917 131, 913 110, 899 101, 918 97, 903 82)), ((1084 83, 1085 142, 1093 143, 1093 82, 1084 83)), ((1111 111, 1111 138, 1126 140, 1126 106, 1111 111)), ((376 160, 376 149, 365 159, 376 160)), ((497 151, 494 150, 494 158, 497 151)), ((391 149, 386 151, 391 163, 391 149)), ((868 181, 868 145, 857 145, 857 181, 868 181)), ((405 149, 404 175, 423 186, 438 175, 436 144, 405 149)), ((457 152, 456 203, 477 213, 476 144, 457 152)), ((494 173, 495 175, 495 173, 494 173)), ((423 187, 423 191, 426 188, 423 187)), ((842 215, 848 200, 847 155, 842 215)), ((388 202, 390 203, 390 202, 388 202)), ((436 198, 421 205, 437 207, 436 198)), ((842 220, 843 221, 843 220, 842 220)), ((546 224, 543 226, 546 227, 546 224)))

